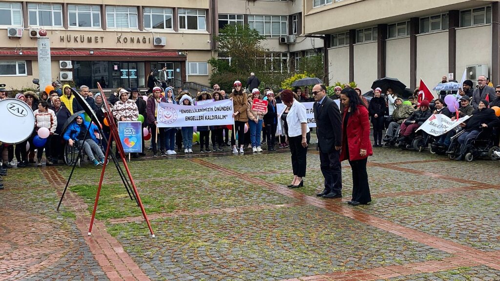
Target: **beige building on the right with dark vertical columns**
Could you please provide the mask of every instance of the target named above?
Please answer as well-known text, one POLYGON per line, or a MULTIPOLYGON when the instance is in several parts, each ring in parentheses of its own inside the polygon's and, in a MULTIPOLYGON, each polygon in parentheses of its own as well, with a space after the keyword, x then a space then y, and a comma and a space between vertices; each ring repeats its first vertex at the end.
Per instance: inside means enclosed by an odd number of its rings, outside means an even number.
POLYGON ((329 82, 395 77, 415 88, 442 76, 500 83, 498 1, 304 0, 306 34, 324 38, 329 82))

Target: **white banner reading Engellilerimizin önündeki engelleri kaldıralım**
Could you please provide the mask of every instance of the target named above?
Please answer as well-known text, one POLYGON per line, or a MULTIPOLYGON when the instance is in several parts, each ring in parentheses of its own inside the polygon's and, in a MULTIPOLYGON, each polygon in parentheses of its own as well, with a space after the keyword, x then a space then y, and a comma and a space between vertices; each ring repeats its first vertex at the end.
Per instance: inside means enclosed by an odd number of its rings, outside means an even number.
POLYGON ((214 126, 234 123, 232 100, 224 99, 201 105, 160 102, 156 121, 158 127, 214 126))

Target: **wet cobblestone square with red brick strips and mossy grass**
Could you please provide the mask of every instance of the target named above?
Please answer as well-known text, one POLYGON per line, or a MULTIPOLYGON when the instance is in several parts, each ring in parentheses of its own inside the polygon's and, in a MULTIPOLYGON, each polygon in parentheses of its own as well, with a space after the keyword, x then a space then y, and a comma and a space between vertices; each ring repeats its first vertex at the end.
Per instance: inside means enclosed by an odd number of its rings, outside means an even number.
MULTIPOLYGON (((279 153, 281 152, 281 153, 279 153)), ((12 168, 0 191, 0 280, 500 280, 498 162, 374 148, 372 203, 322 199, 319 156, 289 189, 290 155, 129 162, 155 237, 108 166, 12 168)))

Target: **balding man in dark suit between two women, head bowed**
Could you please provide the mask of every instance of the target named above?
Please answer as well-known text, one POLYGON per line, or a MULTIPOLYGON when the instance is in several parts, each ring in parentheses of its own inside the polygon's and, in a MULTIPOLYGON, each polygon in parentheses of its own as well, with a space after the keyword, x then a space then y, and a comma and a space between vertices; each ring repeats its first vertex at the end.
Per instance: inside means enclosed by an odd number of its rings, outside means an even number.
POLYGON ((315 100, 317 149, 324 177, 324 190, 316 195, 323 198, 340 198, 342 197, 342 171, 339 160, 342 141, 340 110, 337 104, 326 96, 325 85, 315 84, 312 87, 312 96, 315 100))

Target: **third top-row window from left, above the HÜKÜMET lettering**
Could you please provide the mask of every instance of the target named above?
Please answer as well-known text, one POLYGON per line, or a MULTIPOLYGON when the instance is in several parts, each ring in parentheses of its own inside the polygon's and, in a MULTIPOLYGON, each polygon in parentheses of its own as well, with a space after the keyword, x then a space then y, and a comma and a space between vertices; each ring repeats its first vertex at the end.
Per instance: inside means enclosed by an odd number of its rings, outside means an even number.
POLYGON ((67 5, 69 26, 100 27, 100 7, 67 5))

